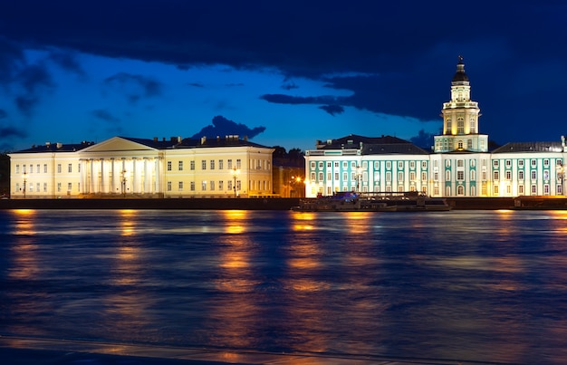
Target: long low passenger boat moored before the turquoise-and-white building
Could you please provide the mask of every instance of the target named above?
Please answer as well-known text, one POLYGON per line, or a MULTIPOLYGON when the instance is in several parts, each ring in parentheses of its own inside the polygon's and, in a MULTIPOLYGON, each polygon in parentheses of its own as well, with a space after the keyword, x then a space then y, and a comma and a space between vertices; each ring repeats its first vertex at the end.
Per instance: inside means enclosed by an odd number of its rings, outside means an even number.
POLYGON ((303 212, 422 212, 448 211, 442 197, 428 197, 417 191, 397 193, 338 192, 329 197, 300 200, 293 210, 303 212))

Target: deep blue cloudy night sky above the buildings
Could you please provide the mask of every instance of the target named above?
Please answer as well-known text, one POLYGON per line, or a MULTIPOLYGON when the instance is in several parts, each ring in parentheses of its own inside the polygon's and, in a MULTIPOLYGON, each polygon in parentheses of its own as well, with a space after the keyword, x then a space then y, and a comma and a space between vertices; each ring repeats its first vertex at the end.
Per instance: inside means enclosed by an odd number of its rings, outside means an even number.
POLYGON ((567 134, 567 2, 0 0, 0 150, 238 134, 430 146, 457 57, 492 141, 567 134))

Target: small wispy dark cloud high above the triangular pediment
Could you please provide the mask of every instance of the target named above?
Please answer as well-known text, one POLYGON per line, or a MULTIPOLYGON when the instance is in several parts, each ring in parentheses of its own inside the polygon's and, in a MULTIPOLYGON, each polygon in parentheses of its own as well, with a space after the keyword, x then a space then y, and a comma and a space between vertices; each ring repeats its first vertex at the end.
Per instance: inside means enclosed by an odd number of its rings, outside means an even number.
POLYGON ((158 97, 163 89, 162 83, 157 80, 127 72, 119 72, 106 78, 104 84, 124 93, 131 103, 142 98, 158 97))

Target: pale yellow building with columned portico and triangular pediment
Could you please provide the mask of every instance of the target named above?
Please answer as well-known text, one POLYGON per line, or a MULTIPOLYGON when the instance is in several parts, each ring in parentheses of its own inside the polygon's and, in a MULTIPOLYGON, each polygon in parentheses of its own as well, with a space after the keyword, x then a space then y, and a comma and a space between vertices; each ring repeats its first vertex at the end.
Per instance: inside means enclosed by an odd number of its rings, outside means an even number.
POLYGON ((9 154, 11 197, 267 197, 273 152, 235 135, 46 143, 9 154))

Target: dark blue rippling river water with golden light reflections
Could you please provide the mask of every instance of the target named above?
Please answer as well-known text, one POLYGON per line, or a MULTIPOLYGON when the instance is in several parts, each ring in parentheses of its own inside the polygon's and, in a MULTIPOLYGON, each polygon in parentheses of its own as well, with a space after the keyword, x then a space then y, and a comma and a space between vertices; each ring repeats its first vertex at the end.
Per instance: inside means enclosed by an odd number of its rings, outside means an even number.
POLYGON ((567 361, 567 212, 0 211, 0 335, 567 361))

